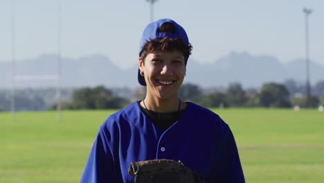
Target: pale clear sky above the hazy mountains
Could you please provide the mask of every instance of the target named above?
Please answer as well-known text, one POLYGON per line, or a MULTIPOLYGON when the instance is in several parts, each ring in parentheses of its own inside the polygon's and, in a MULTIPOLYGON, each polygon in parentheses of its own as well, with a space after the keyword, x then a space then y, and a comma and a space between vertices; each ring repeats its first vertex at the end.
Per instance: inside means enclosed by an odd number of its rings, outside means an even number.
MULTIPOLYGON (((157 0, 153 12, 154 19, 168 17, 186 29, 197 62, 233 51, 291 62, 305 58, 303 8, 312 9, 309 57, 324 66, 323 0, 157 0)), ((57 54, 59 15, 62 57, 100 54, 123 68, 138 63, 139 40, 150 23, 145 0, 0 0, 0 62, 12 60, 12 48, 17 61, 57 54)))

